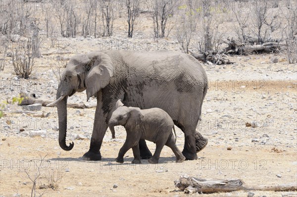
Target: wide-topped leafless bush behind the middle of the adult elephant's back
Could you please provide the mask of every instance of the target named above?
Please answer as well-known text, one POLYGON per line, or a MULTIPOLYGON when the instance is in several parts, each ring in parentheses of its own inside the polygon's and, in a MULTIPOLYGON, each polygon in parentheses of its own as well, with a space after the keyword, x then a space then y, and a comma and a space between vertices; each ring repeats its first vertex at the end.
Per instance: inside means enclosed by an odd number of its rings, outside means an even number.
MULTIPOLYGON (((155 38, 164 38, 167 21, 173 16, 174 8, 178 6, 178 0, 152 0, 153 32, 155 38)), ((169 29, 169 28, 167 28, 169 29)))

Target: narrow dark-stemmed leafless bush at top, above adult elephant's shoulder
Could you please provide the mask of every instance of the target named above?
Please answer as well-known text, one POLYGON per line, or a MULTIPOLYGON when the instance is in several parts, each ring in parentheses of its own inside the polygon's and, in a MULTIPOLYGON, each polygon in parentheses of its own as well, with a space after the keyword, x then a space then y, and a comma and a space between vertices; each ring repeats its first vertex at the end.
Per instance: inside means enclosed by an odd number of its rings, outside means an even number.
POLYGON ((140 8, 139 8, 139 1, 132 1, 127 0, 126 5, 127 5, 127 11, 128 11, 128 37, 132 38, 133 36, 133 30, 134 30, 134 23, 135 19, 139 16, 140 8))

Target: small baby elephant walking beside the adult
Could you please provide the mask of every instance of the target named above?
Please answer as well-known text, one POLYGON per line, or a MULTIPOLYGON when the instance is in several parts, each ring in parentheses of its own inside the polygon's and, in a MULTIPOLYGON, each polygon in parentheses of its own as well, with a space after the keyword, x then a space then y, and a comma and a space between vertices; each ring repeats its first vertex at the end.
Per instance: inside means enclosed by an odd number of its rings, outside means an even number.
MULTIPOLYGON (((125 153, 132 148, 134 160, 132 163, 141 163, 139 140, 144 139, 156 144, 153 156, 148 159, 149 163, 158 163, 160 153, 164 145, 170 147, 176 156, 176 162, 183 162, 186 158, 175 144, 172 134, 174 124, 171 117, 160 108, 140 109, 138 107, 126 107, 118 100, 116 110, 109 120, 109 129, 114 135, 114 126, 122 125, 127 132, 127 138, 115 159, 119 163, 124 162, 125 153)), ((175 130, 174 130, 175 133, 175 130)), ((176 134, 175 134, 176 135, 176 134)))

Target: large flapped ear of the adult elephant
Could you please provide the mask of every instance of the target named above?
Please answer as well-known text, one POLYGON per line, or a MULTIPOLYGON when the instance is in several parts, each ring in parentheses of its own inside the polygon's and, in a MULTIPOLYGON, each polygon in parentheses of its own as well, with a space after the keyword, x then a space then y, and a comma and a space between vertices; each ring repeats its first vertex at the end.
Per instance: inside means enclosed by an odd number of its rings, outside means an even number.
POLYGON ((89 67, 89 72, 85 79, 87 100, 109 84, 114 70, 112 61, 107 54, 91 52, 88 53, 88 57, 89 63, 86 66, 89 67))

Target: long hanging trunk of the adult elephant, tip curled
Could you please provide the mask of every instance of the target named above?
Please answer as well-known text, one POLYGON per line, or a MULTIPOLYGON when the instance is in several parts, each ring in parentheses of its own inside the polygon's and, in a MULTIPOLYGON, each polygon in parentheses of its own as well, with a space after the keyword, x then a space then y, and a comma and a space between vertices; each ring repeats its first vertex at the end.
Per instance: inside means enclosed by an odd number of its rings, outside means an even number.
MULTIPOLYGON (((62 95, 63 96, 63 95, 62 95)), ((61 98, 60 91, 57 91, 57 99, 61 98)), ((65 96, 59 102, 56 103, 59 118, 59 145, 63 150, 71 150, 74 143, 70 143, 69 146, 66 145, 66 130, 67 130, 67 99, 65 96)))

